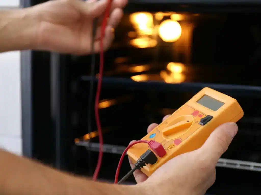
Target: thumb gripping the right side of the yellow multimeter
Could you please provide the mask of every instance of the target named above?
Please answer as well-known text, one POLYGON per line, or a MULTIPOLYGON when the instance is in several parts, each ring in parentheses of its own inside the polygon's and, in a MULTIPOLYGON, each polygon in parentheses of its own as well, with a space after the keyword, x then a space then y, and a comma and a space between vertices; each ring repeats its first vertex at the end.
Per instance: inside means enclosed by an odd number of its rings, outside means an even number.
POLYGON ((229 122, 217 127, 206 140, 206 142, 199 148, 200 153, 205 159, 217 163, 221 155, 227 151, 234 136, 238 132, 236 123, 229 122))

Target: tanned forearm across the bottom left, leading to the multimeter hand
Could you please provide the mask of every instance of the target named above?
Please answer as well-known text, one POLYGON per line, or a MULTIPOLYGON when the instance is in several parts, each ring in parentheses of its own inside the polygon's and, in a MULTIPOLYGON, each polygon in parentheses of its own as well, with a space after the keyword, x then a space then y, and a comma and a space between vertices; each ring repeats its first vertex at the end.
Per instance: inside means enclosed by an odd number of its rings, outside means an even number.
POLYGON ((0 150, 0 194, 144 195, 138 186, 114 185, 70 176, 0 150))

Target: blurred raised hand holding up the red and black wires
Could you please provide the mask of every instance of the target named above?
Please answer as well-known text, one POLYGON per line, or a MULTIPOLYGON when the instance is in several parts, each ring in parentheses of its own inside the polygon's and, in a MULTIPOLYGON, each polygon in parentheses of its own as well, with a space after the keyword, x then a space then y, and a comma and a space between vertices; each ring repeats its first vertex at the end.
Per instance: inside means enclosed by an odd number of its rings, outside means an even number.
MULTIPOLYGON (((128 0, 113 0, 110 18, 105 29, 103 44, 108 49, 114 38, 114 28, 123 16, 122 8, 128 0)), ((51 0, 29 8, 37 15, 39 25, 34 42, 35 49, 60 53, 90 54, 92 24, 99 18, 94 50, 99 52, 101 21, 108 0, 51 0)))

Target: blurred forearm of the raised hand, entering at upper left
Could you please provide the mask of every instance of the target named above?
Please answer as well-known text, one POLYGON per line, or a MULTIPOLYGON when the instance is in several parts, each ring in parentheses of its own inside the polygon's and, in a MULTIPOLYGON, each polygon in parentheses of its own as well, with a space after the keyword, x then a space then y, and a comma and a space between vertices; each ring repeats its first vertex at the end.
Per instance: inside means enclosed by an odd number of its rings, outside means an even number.
POLYGON ((37 16, 27 9, 0 11, 0 52, 34 47, 37 16))

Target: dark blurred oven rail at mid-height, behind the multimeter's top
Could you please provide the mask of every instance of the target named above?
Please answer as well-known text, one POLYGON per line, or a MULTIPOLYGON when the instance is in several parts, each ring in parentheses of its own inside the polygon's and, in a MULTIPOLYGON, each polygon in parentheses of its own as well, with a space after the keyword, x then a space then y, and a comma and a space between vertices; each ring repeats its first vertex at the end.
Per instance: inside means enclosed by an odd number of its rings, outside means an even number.
MULTIPOLYGON (((90 81, 91 76, 82 76, 81 81, 90 81)), ((94 79, 97 82, 98 79, 94 79)), ((154 90, 158 92, 175 91, 175 92, 191 92, 197 93, 204 87, 210 87, 230 96, 242 97, 261 97, 261 87, 251 85, 238 84, 218 84, 218 83, 201 83, 201 82, 183 82, 183 83, 165 83, 161 81, 136 82, 130 78, 113 78, 103 77, 103 87, 116 89, 131 88, 133 90, 154 90)))

